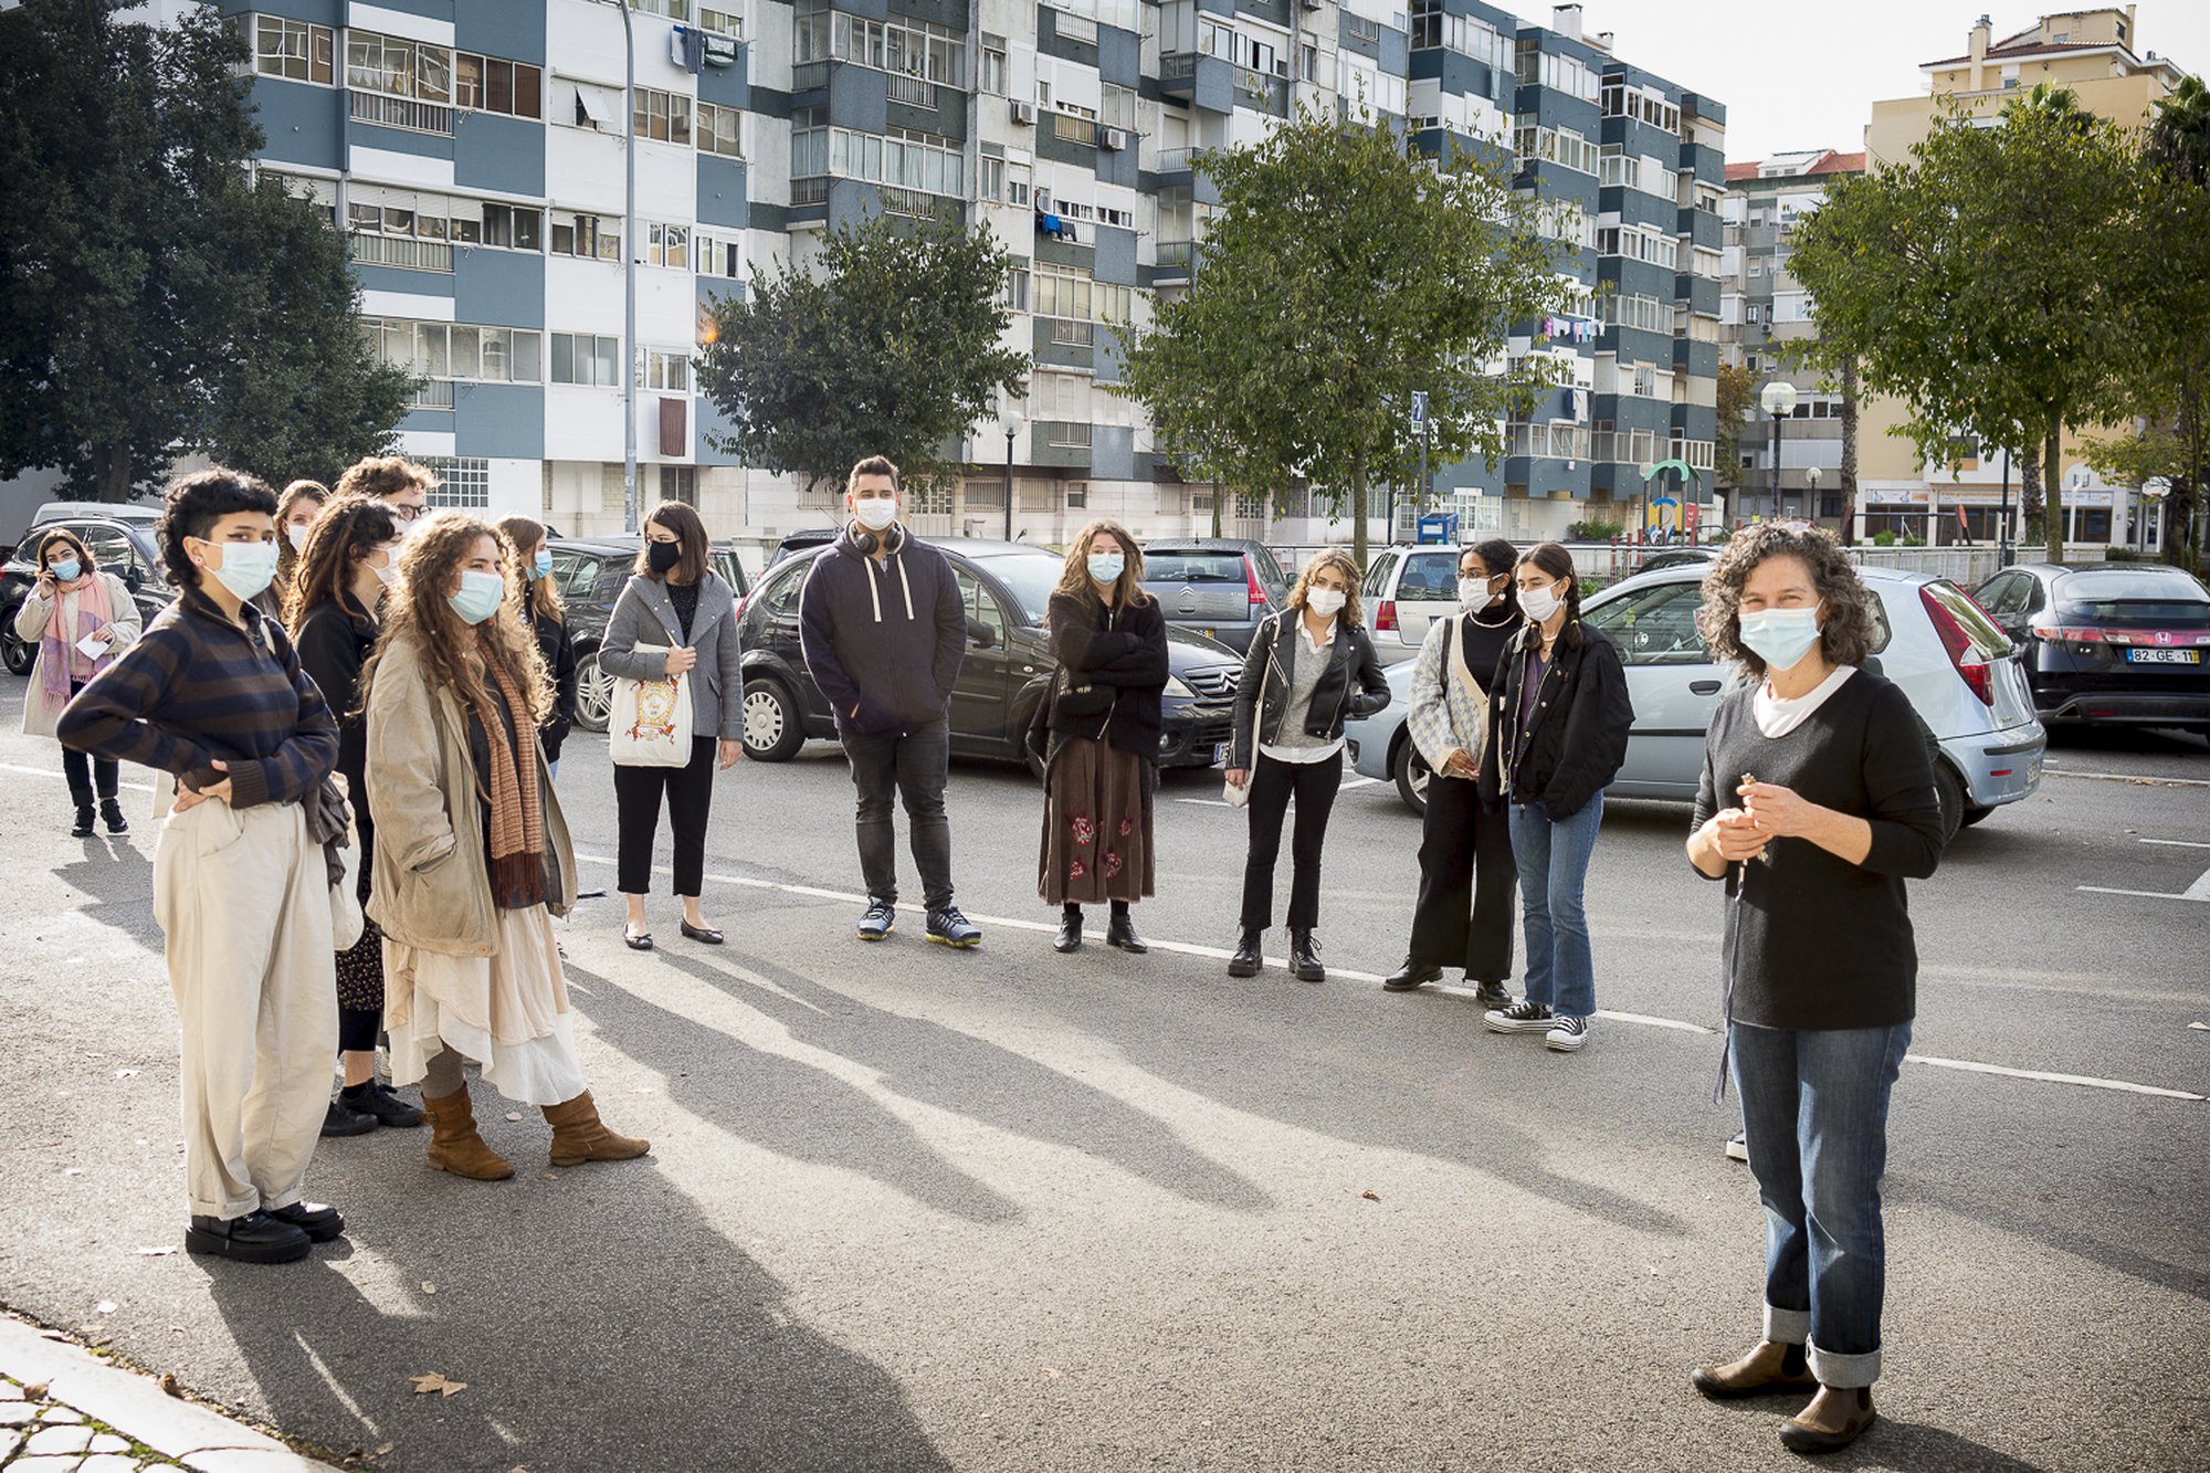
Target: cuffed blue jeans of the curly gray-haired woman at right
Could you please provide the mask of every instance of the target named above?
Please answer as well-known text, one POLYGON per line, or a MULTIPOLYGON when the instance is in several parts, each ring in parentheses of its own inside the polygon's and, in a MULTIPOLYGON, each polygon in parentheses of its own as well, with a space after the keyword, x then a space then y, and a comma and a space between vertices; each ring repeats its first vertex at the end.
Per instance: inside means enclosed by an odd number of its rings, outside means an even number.
POLYGON ((1808 1345, 1828 1387, 1881 1378, 1887 1095, 1912 1044, 1887 1028, 1753 1028, 1728 1040, 1766 1205, 1766 1338, 1808 1345))

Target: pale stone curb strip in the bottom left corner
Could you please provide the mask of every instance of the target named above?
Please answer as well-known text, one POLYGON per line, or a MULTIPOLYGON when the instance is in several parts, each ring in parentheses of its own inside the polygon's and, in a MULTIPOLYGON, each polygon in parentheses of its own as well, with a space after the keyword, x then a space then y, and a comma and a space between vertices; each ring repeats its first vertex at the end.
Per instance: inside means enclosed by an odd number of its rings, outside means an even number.
MULTIPOLYGON (((35 1325, 0 1314, 0 1373, 46 1387, 46 1400, 106 1422, 194 1473, 340 1473, 276 1438, 170 1396, 150 1376, 108 1365, 35 1325)), ((4 1433, 4 1429, 0 1429, 4 1433)))

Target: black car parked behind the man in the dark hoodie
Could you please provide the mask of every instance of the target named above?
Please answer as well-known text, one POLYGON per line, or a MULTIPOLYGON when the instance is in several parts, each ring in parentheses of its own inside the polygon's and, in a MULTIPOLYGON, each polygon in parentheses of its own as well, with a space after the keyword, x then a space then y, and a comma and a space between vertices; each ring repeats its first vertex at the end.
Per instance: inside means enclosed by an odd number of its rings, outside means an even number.
MULTIPOLYGON (((968 613, 968 652, 953 688, 953 752, 1034 761, 1028 721, 1059 668, 1043 606, 1065 566, 1059 555, 1019 542, 948 537, 935 546, 953 562, 968 613)), ((798 646, 798 588, 827 549, 796 553, 760 575, 745 602, 738 639, 745 646, 745 754, 780 763, 807 736, 835 736, 835 719, 807 675, 798 646)), ((1235 725, 1235 650, 1167 626, 1167 730, 1158 761, 1209 767, 1235 725)))

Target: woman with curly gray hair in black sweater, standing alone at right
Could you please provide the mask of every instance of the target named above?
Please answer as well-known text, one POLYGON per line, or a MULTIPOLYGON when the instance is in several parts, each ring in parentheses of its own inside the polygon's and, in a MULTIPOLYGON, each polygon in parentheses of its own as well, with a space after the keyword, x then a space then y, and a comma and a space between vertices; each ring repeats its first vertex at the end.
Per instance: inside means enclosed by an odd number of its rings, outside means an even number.
POLYGON ((1916 1015, 1903 882, 1940 860, 1940 801, 1903 692, 1859 666, 1870 593, 1819 531, 1737 533, 1704 639, 1750 677, 1704 741, 1688 863, 1733 907, 1726 1046, 1766 1208, 1764 1336, 1699 1367, 1713 1398, 1810 1391, 1797 1453, 1872 1424, 1881 1373, 1887 1095, 1916 1015), (1832 938, 1848 936, 1848 947, 1832 938))

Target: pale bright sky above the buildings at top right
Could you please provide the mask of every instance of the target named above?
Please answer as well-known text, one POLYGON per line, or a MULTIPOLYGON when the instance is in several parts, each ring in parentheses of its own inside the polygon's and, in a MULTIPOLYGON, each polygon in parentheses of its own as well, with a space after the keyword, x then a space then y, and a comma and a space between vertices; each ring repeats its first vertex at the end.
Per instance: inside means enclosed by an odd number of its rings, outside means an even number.
MULTIPOLYGON (((1545 0, 1490 0, 1549 24, 1545 0)), ((1582 0, 1587 33, 1620 60, 1726 104, 1726 157, 1865 146, 1878 97, 1920 95, 1920 62, 1965 55, 1982 13, 1996 35, 2082 0, 1582 0)), ((2135 53, 2210 77, 2210 0, 2137 0, 2135 53)))

